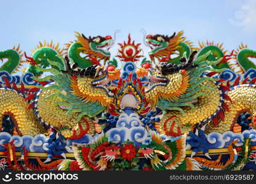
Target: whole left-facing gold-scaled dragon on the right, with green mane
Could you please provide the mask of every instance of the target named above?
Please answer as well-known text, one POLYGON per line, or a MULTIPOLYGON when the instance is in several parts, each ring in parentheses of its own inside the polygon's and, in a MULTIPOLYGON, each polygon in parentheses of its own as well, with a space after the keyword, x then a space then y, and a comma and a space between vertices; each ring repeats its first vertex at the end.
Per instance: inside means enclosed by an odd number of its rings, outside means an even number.
POLYGON ((209 132, 225 132, 233 128, 241 112, 249 112, 253 117, 255 111, 256 89, 254 81, 234 86, 224 86, 220 79, 211 77, 222 70, 210 67, 222 59, 206 61, 210 52, 190 59, 181 59, 182 64, 161 63, 151 70, 146 98, 153 105, 165 110, 160 131, 176 135, 188 133, 194 126, 207 124, 209 132), (206 73, 206 71, 210 71, 206 73))

